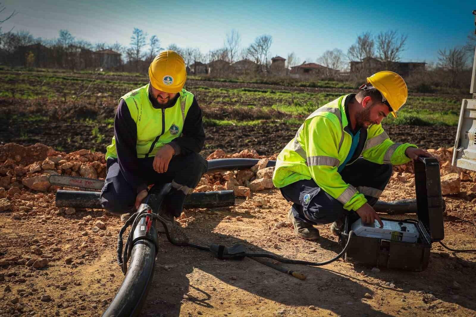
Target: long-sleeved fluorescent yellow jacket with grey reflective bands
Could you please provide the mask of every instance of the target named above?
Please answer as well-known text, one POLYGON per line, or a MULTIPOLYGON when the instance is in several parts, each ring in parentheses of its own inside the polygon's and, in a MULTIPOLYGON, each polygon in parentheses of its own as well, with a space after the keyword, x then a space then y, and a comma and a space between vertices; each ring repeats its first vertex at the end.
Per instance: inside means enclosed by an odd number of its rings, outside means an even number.
MULTIPOLYGON (((354 95, 341 96, 307 117, 294 139, 278 155, 273 173, 273 183, 277 188, 312 178, 347 210, 357 210, 367 202, 364 195, 343 181, 337 172, 352 144, 345 100, 354 95)), ((353 158, 362 156, 377 164, 405 164, 410 160, 405 150, 417 147, 409 143, 392 142, 380 124, 363 130, 360 138, 361 141, 365 140, 365 146, 357 147, 361 153, 354 153, 353 158)), ((349 161, 347 165, 352 163, 349 161)))

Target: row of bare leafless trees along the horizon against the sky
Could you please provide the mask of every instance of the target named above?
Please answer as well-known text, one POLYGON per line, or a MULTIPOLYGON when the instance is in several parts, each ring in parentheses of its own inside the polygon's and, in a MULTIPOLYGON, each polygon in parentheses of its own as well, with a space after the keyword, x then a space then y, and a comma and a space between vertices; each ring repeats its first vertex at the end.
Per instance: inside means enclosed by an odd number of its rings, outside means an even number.
MULTIPOLYGON (((0 3, 0 15, 5 7, 0 3)), ((20 47, 31 44, 41 43, 54 52, 54 65, 61 68, 77 69, 80 60, 88 55, 82 54, 84 51, 98 51, 110 49, 118 52, 121 56, 122 65, 128 65, 129 69, 143 71, 150 61, 157 55, 160 50, 164 50, 161 40, 157 35, 151 35, 141 29, 134 28, 130 37, 129 46, 124 46, 119 42, 91 43, 87 40, 76 39, 68 30, 60 30, 56 39, 35 38, 29 31, 20 30, 2 30, 1 24, 14 17, 16 12, 0 18, 0 49, 4 55, 12 55, 20 47)), ((390 69, 392 63, 401 59, 402 52, 406 49, 408 36, 399 34, 397 30, 387 30, 373 35, 371 32, 363 32, 357 36, 354 44, 352 44, 347 53, 340 49, 326 50, 317 58, 307 58, 305 62, 317 62, 326 67, 328 71, 335 73, 327 73, 328 76, 335 76, 337 71, 346 70, 349 61, 364 61, 368 58, 379 59, 387 69, 390 69)), ((165 49, 175 50, 185 59, 187 67, 195 62, 208 64, 210 62, 222 59, 229 63, 238 60, 249 59, 258 66, 258 69, 268 70, 271 64, 271 46, 273 37, 269 34, 258 36, 252 43, 242 46, 241 35, 238 30, 230 30, 223 41, 223 46, 217 49, 202 52, 197 47, 180 47, 176 43, 170 43, 165 49)), ((436 64, 428 65, 432 69, 442 69, 450 74, 451 81, 455 82, 458 75, 471 66, 474 48, 476 45, 476 35, 468 35, 465 46, 457 46, 452 48, 444 48, 438 50, 438 61, 436 64)), ((291 68, 301 64, 301 60, 295 52, 288 53, 286 67, 291 68)), ((27 63, 34 56, 27 56, 27 63)), ((82 66, 88 63, 82 63, 82 66)), ((91 63, 89 63, 91 64, 91 63)))

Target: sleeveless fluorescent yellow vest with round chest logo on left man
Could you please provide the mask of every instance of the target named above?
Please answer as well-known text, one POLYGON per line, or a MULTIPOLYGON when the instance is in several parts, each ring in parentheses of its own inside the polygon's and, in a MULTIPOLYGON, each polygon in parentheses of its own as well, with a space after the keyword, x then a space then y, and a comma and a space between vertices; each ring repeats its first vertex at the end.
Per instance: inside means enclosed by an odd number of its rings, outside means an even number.
MULTIPOLYGON (((122 96, 130 116, 137 125, 137 157, 153 157, 157 150, 182 134, 188 109, 193 102, 193 94, 185 89, 173 107, 156 109, 149 100, 149 84, 132 90, 122 96)), ((120 101, 119 99, 119 101, 120 101)), ((117 158, 116 140, 107 147, 106 159, 117 158)))

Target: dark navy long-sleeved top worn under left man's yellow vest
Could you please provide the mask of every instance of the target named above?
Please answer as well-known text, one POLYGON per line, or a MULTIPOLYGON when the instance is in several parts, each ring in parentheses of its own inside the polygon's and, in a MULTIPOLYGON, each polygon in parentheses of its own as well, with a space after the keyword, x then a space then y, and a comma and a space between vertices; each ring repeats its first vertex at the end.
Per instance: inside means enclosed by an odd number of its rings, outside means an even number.
MULTIPOLYGON (((156 99, 153 99, 149 93, 149 100, 152 106, 157 109, 173 107, 175 105, 174 101, 177 101, 178 97, 179 94, 171 100, 168 106, 163 106, 156 99)), ((137 125, 132 119, 124 99, 120 100, 114 118, 114 137, 122 175, 133 188, 137 188, 137 192, 147 188, 147 177, 143 175, 140 168, 144 160, 147 159, 137 157, 137 125)), ((204 143, 205 131, 203 129, 202 110, 194 97, 185 117, 181 136, 173 139, 169 145, 175 149, 175 155, 185 155, 190 152, 199 153, 203 149, 204 143)))

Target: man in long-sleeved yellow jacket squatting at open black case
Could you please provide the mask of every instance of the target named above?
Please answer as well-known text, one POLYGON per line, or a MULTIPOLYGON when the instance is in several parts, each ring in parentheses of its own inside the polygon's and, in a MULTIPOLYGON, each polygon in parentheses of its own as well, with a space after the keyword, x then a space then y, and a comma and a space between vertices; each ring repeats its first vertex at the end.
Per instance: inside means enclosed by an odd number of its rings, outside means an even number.
POLYGON ((288 218, 295 234, 319 238, 314 225, 332 223, 339 235, 346 215, 382 222, 372 206, 387 186, 392 165, 431 155, 413 144, 394 143, 380 122, 407 101, 396 73, 367 78, 357 94, 341 96, 314 111, 279 153, 273 183, 293 202, 288 218))

